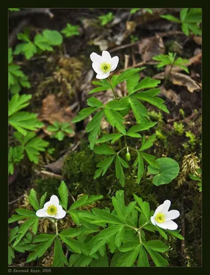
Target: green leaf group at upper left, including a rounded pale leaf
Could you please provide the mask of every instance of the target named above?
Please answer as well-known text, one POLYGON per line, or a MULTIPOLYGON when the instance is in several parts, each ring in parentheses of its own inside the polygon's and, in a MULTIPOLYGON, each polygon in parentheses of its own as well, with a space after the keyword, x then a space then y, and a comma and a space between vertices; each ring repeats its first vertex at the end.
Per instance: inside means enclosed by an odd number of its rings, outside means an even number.
POLYGON ((19 33, 17 38, 23 43, 16 45, 14 54, 23 54, 28 60, 36 53, 52 51, 53 47, 62 44, 62 35, 56 30, 43 30, 41 34, 36 34, 34 42, 30 39, 30 30, 25 28, 23 33, 19 33))

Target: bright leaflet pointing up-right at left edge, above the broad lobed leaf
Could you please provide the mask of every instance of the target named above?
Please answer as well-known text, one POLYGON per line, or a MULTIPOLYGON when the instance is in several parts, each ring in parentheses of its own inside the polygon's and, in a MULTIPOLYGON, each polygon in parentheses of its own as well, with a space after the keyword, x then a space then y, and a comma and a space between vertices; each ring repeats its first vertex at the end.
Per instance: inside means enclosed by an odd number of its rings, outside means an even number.
POLYGON ((8 104, 8 116, 10 117, 14 113, 20 111, 21 109, 27 107, 30 102, 28 102, 32 98, 32 95, 21 95, 16 94, 12 96, 12 99, 9 101, 8 104))

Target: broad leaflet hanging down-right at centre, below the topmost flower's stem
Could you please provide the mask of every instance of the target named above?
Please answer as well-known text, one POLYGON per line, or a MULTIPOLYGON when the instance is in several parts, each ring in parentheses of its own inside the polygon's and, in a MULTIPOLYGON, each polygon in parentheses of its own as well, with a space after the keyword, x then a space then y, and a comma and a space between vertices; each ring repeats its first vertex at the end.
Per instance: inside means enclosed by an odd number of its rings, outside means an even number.
POLYGON ((104 109, 104 114, 111 126, 116 127, 119 132, 126 135, 126 129, 124 126, 124 118, 115 110, 106 107, 104 109))

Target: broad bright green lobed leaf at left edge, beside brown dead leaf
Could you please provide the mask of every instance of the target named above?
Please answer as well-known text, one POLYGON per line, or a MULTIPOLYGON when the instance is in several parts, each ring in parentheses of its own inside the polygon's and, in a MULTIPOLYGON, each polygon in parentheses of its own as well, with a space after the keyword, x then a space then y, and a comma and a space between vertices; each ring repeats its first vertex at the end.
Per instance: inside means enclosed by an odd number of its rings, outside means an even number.
POLYGON ((40 127, 44 126, 43 122, 40 122, 35 113, 29 113, 26 111, 19 111, 14 113, 9 118, 9 124, 12 125, 17 131, 23 135, 27 135, 26 130, 36 131, 40 127))

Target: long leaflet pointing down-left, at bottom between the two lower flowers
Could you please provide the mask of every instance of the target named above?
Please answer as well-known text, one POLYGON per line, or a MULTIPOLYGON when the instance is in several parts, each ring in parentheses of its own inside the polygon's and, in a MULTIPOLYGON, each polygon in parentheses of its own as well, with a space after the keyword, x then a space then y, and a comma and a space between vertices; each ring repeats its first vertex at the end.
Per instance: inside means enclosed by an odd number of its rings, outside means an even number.
POLYGON ((97 250, 99 250, 105 243, 110 239, 111 236, 117 234, 121 228, 123 228, 124 225, 111 225, 110 227, 102 230, 100 234, 97 234, 97 236, 93 237, 94 242, 92 245, 91 253, 90 255, 93 255, 97 250))

